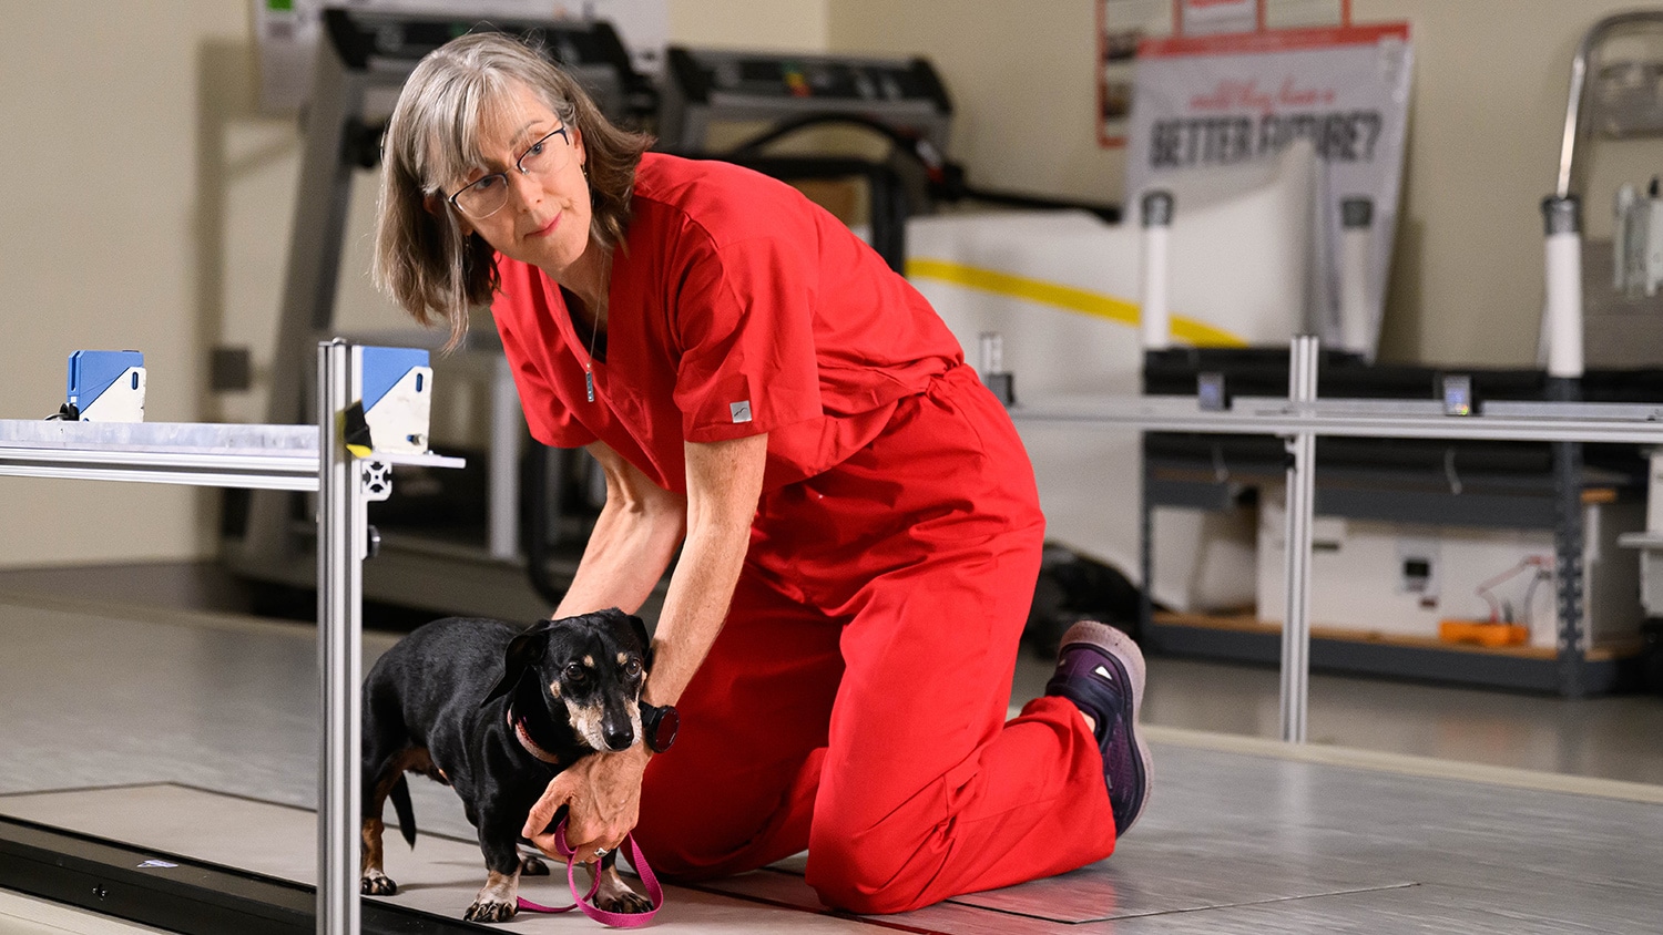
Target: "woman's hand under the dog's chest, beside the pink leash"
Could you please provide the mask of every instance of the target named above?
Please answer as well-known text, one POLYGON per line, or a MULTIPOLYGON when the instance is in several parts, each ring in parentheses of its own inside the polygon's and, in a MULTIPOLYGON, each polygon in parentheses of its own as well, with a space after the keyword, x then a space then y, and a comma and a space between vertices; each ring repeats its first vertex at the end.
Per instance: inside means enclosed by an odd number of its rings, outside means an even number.
POLYGON ((627 751, 590 754, 549 781, 530 807, 524 835, 549 857, 560 859, 549 822, 567 805, 565 844, 574 860, 592 864, 597 850, 624 844, 640 817, 640 777, 652 754, 637 744, 627 751))

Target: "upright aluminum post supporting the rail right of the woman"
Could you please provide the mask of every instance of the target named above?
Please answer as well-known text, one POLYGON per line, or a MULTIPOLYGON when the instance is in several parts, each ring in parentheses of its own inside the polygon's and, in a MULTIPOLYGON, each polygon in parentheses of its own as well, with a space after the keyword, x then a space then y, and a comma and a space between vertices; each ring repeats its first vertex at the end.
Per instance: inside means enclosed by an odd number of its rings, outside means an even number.
MULTIPOLYGON (((1289 354, 1287 399, 1317 399, 1315 337, 1294 339, 1289 354)), ((1305 742, 1305 707, 1310 686, 1310 521, 1315 507, 1317 437, 1297 432, 1287 443, 1287 614, 1282 621, 1282 739, 1305 742)))

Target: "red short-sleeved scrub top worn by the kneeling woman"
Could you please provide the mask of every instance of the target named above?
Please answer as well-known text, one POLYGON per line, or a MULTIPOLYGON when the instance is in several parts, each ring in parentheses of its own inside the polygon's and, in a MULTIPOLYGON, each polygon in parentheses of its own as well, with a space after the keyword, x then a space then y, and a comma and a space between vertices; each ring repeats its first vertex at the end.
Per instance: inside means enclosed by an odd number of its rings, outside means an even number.
POLYGON ((965 359, 925 297, 836 218, 720 161, 642 156, 595 402, 559 286, 501 254, 497 269, 491 312, 532 435, 560 448, 599 438, 665 490, 687 490, 683 442, 762 432, 763 488, 813 477, 965 359))

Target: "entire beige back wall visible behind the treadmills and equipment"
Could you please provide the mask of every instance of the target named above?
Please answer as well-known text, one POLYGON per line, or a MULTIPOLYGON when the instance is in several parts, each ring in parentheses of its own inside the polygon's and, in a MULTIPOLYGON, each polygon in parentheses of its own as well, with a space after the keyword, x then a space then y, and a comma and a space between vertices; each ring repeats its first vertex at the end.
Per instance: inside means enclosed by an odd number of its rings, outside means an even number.
MULTIPOLYGON (((1631 5, 1355 0, 1359 20, 1410 20, 1417 47, 1389 357, 1533 359, 1537 203, 1553 181, 1572 48, 1631 5)), ((978 184, 1119 198, 1119 153, 1094 138, 1091 0, 669 8, 672 38, 690 45, 928 55, 958 105, 953 154, 978 184)), ((70 350, 133 347, 150 365, 151 420, 263 419, 299 136, 293 118, 253 106, 248 5, 0 0, 0 417, 52 412, 70 350), (206 392, 221 342, 254 349, 256 392, 206 392)), ((363 276, 371 194, 358 186, 343 277, 354 327, 399 322, 363 276)), ((0 566, 213 551, 203 493, 5 480, 3 497, 0 566)))

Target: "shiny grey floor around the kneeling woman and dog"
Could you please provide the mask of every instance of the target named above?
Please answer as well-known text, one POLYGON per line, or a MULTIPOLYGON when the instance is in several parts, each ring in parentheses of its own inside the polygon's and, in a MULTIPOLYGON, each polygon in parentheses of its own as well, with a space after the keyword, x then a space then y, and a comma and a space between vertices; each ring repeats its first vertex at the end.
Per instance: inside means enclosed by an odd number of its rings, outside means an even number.
MULTIPOLYGON (((366 658, 392 634, 366 636, 366 658)), ((205 825, 311 854, 314 631, 0 588, 0 812, 229 860, 205 825), (121 791, 85 792, 113 787, 121 791), (135 804, 121 795, 156 795, 135 804), (228 824, 190 820, 228 807, 228 824), (126 822, 123 825, 121 822, 126 822), (263 824, 264 822, 264 824, 263 824)), ((1014 696, 1048 666, 1024 661, 1014 696)), ((672 888, 667 932, 1658 932, 1663 699, 1312 679, 1305 747, 1267 739, 1274 671, 1151 659, 1156 792, 1119 852, 1053 880, 885 918, 827 915, 800 860, 672 888)), ((454 795, 416 784, 429 897, 479 885, 454 795), (436 840, 442 840, 436 839, 436 840), (449 850, 447 850, 449 849, 449 850)), ((402 847, 402 845, 399 845, 402 847)), ((389 849, 391 852, 396 849, 389 849)), ((409 859, 409 854, 404 855, 409 859)), ((391 859, 391 857, 389 857, 391 859)), ((426 875, 426 877, 424 877, 426 875)), ((3 880, 0 880, 3 887, 3 880)), ((517 918, 511 930, 594 930, 517 918)), ((0 890, 0 932, 131 932, 0 890)))

